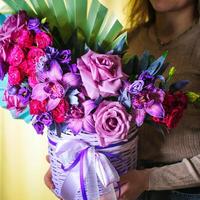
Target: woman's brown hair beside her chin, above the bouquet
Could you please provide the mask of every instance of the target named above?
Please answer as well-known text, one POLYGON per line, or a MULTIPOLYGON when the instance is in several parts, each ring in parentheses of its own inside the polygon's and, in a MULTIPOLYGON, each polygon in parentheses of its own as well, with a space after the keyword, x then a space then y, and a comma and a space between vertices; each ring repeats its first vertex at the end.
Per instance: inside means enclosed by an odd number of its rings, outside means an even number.
MULTIPOLYGON (((200 0, 196 0, 198 9, 196 10, 196 16, 200 16, 200 0)), ((146 23, 153 23, 155 21, 155 10, 153 9, 149 0, 129 0, 128 8, 130 8, 130 14, 128 16, 128 27, 136 28, 146 23)))

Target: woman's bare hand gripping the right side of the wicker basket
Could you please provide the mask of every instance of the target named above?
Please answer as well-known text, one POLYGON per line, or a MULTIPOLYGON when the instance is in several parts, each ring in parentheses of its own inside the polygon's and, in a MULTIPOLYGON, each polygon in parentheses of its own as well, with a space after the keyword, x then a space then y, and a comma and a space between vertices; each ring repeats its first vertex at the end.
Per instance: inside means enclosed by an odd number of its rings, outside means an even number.
POLYGON ((120 178, 121 195, 119 200, 136 200, 149 188, 151 170, 131 170, 120 178))

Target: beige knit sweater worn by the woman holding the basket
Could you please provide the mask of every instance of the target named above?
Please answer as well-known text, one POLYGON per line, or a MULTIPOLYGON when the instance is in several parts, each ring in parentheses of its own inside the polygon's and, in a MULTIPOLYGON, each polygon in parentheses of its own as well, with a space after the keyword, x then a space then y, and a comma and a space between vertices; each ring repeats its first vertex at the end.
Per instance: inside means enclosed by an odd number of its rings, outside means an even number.
MULTIPOLYGON (((130 53, 149 50, 156 57, 169 51, 168 61, 176 66, 176 79, 190 80, 186 90, 200 92, 200 25, 171 44, 160 47, 142 27, 129 37, 130 53)), ((152 127, 140 131, 139 159, 155 163, 177 163, 154 168, 149 190, 200 187, 200 108, 190 105, 178 127, 166 137, 152 127)))

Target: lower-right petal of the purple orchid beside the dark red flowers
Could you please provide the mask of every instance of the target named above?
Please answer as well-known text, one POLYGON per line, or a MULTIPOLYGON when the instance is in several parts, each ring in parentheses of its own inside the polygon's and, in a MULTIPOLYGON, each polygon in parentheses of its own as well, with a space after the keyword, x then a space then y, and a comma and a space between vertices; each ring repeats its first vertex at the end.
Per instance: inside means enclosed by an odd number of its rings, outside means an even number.
POLYGON ((165 110, 162 104, 159 103, 153 104, 152 106, 147 107, 145 110, 149 115, 153 117, 163 118, 165 116, 165 110))

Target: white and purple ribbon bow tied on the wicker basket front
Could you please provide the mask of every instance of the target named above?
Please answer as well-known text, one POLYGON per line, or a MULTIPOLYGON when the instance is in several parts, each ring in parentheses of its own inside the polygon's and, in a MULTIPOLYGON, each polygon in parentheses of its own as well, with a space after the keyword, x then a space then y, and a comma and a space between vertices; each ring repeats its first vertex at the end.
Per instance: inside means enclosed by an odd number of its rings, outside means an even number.
POLYGON ((66 172, 61 196, 74 200, 81 191, 83 200, 100 198, 98 180, 109 197, 116 199, 114 183, 119 182, 119 175, 108 158, 95 147, 78 139, 68 139, 57 144, 56 156, 66 172))

